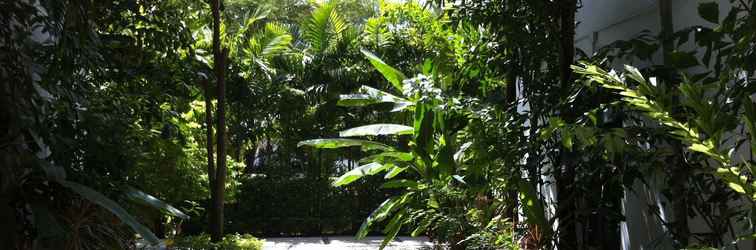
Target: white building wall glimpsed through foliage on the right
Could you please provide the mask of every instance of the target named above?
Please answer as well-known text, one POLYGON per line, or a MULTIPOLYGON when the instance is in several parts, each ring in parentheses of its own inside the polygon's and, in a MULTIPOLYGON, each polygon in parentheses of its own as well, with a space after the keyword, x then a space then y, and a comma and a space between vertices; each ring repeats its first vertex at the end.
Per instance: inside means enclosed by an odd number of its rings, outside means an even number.
MULTIPOLYGON (((617 40, 629 40, 642 31, 649 31, 651 35, 659 34, 659 1, 658 0, 582 0, 583 6, 578 10, 576 19, 576 47, 587 54, 592 54, 598 48, 617 40)), ((724 18, 729 11, 729 1, 717 1, 720 4, 720 18, 724 18)), ((699 1, 673 0, 672 16, 674 29, 702 25, 711 27, 698 15, 699 1)), ((691 37, 691 41, 692 41, 691 37)), ((693 49, 694 44, 688 42, 684 49, 693 49)), ((702 51, 699 53, 703 53, 702 51)), ((654 61, 661 62, 661 55, 655 55, 654 61)), ((636 66, 639 62, 632 62, 636 66)), ((736 157, 737 158, 737 157, 736 157)), ((659 172, 660 173, 660 172, 659 172)), ((671 240, 664 237, 665 228, 660 219, 673 218, 663 204, 669 204, 659 190, 664 187, 661 174, 651 174, 647 177, 648 187, 637 182, 632 189, 625 190, 622 209, 626 222, 620 225, 622 250, 634 249, 672 249, 671 240), (661 218, 649 211, 649 205, 662 207, 658 213, 661 218)), ((689 218, 691 232, 697 232, 705 224, 700 219, 689 218)), ((753 242, 742 242, 740 249, 754 249, 753 242)))

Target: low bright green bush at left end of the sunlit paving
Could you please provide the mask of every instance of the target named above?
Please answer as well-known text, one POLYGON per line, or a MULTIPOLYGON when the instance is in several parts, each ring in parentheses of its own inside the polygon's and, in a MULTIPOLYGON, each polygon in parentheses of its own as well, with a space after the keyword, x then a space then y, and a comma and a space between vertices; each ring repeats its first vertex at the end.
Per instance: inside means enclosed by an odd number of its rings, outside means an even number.
POLYGON ((168 243, 168 249, 260 250, 264 240, 249 234, 229 234, 219 243, 210 242, 210 235, 180 236, 168 243))

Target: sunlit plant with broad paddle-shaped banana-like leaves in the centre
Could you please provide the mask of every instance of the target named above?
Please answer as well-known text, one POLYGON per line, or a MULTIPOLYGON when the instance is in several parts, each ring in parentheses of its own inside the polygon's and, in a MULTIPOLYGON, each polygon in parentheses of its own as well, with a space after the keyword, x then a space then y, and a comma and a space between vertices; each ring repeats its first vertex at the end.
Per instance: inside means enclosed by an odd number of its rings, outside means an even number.
POLYGON ((366 50, 362 50, 362 53, 393 90, 361 86, 358 93, 341 95, 338 104, 346 107, 393 104, 390 112, 411 113, 412 124, 370 124, 341 131, 339 138, 306 140, 298 145, 316 149, 360 147, 373 153, 359 161, 361 166, 333 181, 333 186, 344 186, 365 176, 383 174, 385 183, 382 188, 401 191, 380 204, 365 219, 356 235, 363 238, 376 223, 388 220, 383 230, 386 237, 381 244, 382 249, 403 226, 415 224, 412 235, 417 236, 432 228, 433 223, 440 219, 437 213, 439 198, 435 191, 455 182, 464 183, 463 177, 456 173, 467 147, 456 143, 456 133, 449 126, 448 108, 453 106, 453 102, 442 96, 441 90, 434 86, 430 78, 422 74, 407 78, 372 53, 366 50), (400 143, 388 145, 369 140, 377 136, 406 136, 410 142, 400 149, 397 146, 400 143), (361 137, 363 139, 359 139, 361 137))

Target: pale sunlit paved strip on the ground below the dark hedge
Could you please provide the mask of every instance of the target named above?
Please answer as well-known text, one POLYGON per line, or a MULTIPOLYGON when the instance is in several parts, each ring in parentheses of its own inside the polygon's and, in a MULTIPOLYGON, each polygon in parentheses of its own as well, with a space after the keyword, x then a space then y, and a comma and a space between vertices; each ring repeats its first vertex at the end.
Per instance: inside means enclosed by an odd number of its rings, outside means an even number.
MULTIPOLYGON (((380 247, 383 237, 365 237, 362 240, 354 236, 333 237, 292 237, 266 238, 264 250, 375 250, 380 247)), ((397 237, 385 248, 386 250, 429 250, 433 244, 425 237, 397 237)))

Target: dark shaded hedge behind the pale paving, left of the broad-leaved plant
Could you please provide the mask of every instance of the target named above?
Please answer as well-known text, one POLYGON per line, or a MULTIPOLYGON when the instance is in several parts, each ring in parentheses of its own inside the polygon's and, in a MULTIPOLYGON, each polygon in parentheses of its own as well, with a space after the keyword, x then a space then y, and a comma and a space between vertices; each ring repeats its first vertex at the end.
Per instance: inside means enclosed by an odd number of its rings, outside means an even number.
POLYGON ((376 180, 366 182, 343 189, 327 178, 249 178, 237 203, 227 207, 227 230, 265 236, 354 234, 387 195, 376 180))

